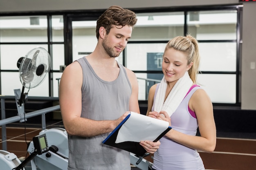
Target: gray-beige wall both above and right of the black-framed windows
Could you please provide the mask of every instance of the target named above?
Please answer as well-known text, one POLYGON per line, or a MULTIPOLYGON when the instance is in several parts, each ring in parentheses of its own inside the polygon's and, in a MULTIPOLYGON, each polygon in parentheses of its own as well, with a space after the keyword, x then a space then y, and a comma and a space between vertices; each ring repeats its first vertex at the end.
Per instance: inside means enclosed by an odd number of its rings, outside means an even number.
MULTIPOLYGON (((1 0, 0 13, 106 9, 114 4, 132 9, 238 3, 239 0, 112 0, 111 2, 106 0, 1 0)), ((250 69, 250 63, 256 62, 255 9, 256 2, 244 2, 241 103, 242 109, 252 110, 256 110, 256 70, 250 69)))

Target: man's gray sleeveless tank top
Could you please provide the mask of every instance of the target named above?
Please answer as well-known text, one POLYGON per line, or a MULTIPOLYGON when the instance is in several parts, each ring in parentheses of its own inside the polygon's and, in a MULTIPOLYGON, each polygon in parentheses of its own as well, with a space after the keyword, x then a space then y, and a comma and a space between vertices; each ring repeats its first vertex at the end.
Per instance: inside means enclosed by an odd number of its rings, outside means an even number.
MULTIPOLYGON (((85 57, 76 60, 83 70, 81 117, 114 120, 129 110, 132 88, 124 66, 118 64, 117 79, 99 78, 85 57)), ((68 135, 68 170, 130 170, 130 153, 102 144, 109 135, 79 137, 68 135)))

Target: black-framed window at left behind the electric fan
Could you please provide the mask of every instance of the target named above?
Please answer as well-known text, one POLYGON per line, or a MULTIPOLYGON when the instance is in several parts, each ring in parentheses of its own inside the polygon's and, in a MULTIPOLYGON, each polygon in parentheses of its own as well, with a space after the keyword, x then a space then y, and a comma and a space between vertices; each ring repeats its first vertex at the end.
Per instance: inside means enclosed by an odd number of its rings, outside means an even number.
POLYGON ((22 88, 18 59, 37 47, 50 53, 53 73, 49 73, 42 84, 29 89, 29 96, 58 97, 57 80, 51 81, 51 77, 52 74, 56 77, 54 70, 59 72, 60 65, 65 64, 63 15, 0 16, 1 95, 13 96, 14 89, 22 88))

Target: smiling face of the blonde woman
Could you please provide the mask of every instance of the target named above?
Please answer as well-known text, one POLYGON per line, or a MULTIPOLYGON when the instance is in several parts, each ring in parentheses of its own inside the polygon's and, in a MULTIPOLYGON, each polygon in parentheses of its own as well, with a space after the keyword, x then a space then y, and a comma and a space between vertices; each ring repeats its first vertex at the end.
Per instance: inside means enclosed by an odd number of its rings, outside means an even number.
POLYGON ((191 64, 187 64, 186 55, 173 48, 167 49, 163 56, 162 71, 167 82, 177 82, 183 77, 186 71, 191 68, 191 64))

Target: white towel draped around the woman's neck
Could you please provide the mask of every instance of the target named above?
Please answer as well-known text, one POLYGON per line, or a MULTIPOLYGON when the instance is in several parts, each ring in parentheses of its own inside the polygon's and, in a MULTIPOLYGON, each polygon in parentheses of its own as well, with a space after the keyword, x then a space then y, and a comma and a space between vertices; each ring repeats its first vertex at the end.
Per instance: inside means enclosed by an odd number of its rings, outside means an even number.
POLYGON ((193 85, 193 81, 189 77, 189 73, 186 71, 184 76, 181 77, 173 86, 171 92, 164 101, 167 83, 168 82, 166 82, 165 77, 163 77, 155 97, 154 111, 159 113, 161 110, 164 110, 171 117, 193 85))

